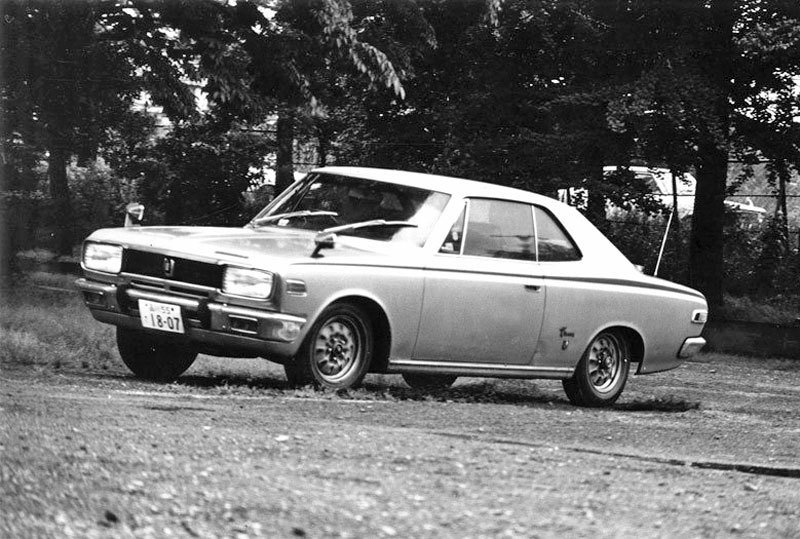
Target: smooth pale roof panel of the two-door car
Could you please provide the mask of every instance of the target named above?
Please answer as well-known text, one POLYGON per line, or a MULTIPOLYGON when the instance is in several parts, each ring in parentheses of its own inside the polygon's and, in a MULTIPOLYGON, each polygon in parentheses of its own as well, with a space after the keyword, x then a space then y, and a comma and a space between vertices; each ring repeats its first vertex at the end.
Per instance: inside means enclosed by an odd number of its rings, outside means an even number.
POLYGON ((323 167, 314 169, 311 172, 339 174, 342 176, 351 176, 380 182, 402 183, 404 185, 410 185, 411 187, 441 191, 443 193, 459 196, 508 198, 511 200, 530 203, 536 202, 547 205, 557 202, 550 197, 531 193, 530 191, 523 191, 522 189, 422 172, 370 167, 323 167))

